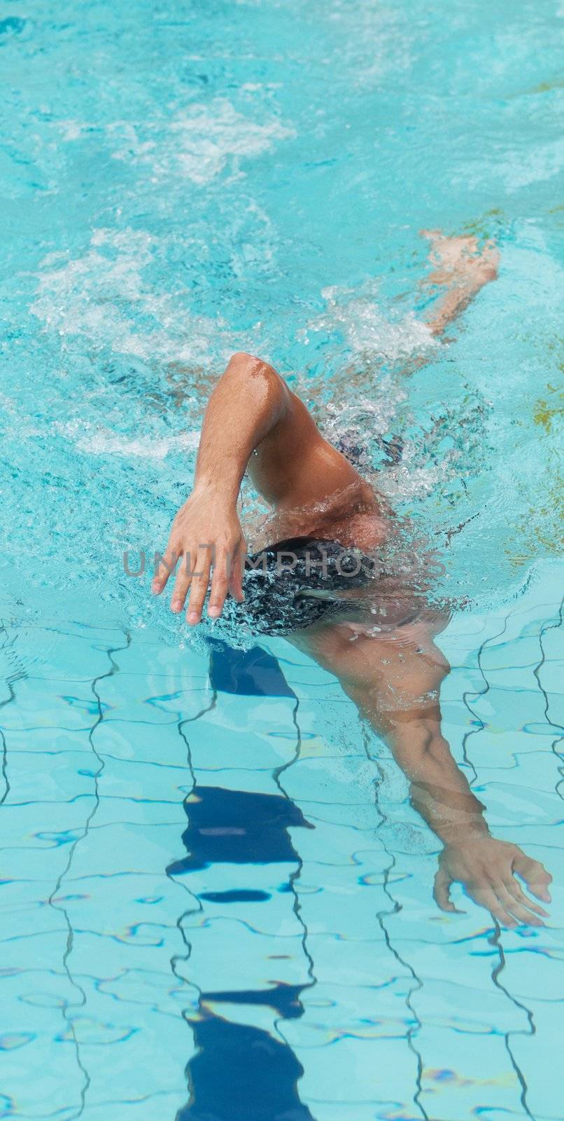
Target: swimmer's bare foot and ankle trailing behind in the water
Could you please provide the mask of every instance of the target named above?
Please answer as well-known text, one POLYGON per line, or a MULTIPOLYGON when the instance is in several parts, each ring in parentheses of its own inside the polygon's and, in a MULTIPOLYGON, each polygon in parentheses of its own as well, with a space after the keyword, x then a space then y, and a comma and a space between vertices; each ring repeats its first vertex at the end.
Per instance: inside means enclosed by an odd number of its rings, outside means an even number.
POLYGON ((499 252, 492 241, 480 249, 474 237, 448 238, 440 230, 422 230, 431 242, 433 271, 423 281, 444 289, 427 319, 434 335, 444 328, 470 303, 473 296, 498 275, 499 252))

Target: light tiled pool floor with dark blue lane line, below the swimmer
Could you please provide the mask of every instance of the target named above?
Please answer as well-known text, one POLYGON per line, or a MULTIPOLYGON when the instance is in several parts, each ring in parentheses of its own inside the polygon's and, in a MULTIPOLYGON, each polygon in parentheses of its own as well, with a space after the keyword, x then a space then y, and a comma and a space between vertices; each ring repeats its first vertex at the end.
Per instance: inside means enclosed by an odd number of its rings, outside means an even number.
POLYGON ((557 1121, 556 575, 440 639, 453 753, 554 876, 542 930, 436 909, 405 779, 283 640, 210 680, 150 632, 7 628, 0 1115, 557 1121))

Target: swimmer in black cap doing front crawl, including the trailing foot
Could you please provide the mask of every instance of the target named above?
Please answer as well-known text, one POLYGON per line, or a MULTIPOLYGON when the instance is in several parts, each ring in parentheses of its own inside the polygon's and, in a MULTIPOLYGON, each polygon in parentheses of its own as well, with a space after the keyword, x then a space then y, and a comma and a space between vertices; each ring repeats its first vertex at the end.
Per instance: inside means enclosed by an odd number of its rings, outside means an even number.
MULTIPOLYGON (((427 322, 441 335, 496 278, 498 254, 491 244, 480 250, 473 238, 426 237, 435 266, 429 279, 438 289, 427 322)), ((546 911, 535 899, 549 902, 551 876, 517 845, 490 835, 485 806, 441 731, 440 687, 450 666, 434 638, 448 617, 426 604, 425 573, 375 566, 398 532, 385 499, 323 439, 275 370, 234 354, 209 398, 194 490, 172 524, 153 592, 162 592, 181 557, 171 610, 181 612, 189 595, 187 621, 196 626, 208 589, 207 613, 217 619, 224 610, 243 612, 236 604, 245 587, 257 631, 283 633, 333 674, 389 745, 412 804, 443 844, 438 906, 455 910, 450 887, 459 882, 500 925, 542 926, 546 911), (237 513, 245 471, 274 509, 271 544, 250 558, 237 513), (295 563, 286 566, 288 554, 295 563)))

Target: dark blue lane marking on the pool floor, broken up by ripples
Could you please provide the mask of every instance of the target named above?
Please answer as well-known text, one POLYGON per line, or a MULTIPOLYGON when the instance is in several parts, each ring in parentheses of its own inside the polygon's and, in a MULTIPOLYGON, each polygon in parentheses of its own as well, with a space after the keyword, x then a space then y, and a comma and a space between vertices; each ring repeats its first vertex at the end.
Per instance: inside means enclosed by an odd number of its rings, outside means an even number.
MULTIPOLYGON (((218 692, 294 696, 276 660, 258 647, 242 651, 214 643, 210 682, 218 692)), ((290 798, 196 785, 185 809, 188 827, 182 841, 188 855, 170 865, 169 874, 181 876, 214 863, 291 863, 291 874, 279 890, 294 897, 300 858, 288 831, 314 826, 290 798)), ((224 891, 200 891, 198 898, 212 904, 254 905, 267 902, 272 896, 234 883, 224 891)), ((262 1006, 272 1009, 276 1018, 295 1019, 303 1015, 300 995, 306 988, 279 982, 267 989, 200 993, 197 1011, 187 1015, 197 1053, 187 1068, 190 1100, 177 1121, 313 1121, 298 1095, 303 1067, 283 1038, 217 1012, 222 1003, 262 1006)))

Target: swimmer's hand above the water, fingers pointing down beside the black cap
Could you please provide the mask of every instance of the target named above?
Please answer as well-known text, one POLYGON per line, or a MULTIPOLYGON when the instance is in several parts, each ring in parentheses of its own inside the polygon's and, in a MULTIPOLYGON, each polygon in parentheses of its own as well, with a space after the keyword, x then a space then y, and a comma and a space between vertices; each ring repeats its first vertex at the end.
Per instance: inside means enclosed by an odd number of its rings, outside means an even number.
POLYGON ((172 522, 152 591, 156 595, 162 592, 178 563, 170 610, 180 612, 189 591, 186 619, 190 626, 199 623, 212 580, 208 615, 217 619, 228 591, 238 603, 244 599, 245 554, 246 544, 234 503, 224 500, 216 488, 197 485, 172 522))

